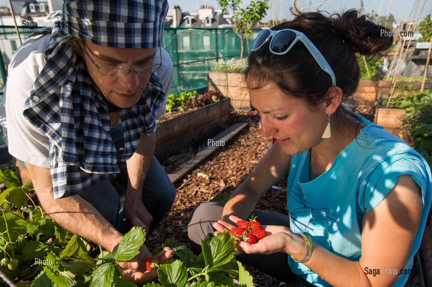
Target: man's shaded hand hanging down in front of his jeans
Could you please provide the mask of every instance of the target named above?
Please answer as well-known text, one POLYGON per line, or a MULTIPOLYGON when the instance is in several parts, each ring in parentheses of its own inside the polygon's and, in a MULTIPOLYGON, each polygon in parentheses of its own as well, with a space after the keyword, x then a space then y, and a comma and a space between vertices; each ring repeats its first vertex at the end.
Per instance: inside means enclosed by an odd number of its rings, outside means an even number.
POLYGON ((130 225, 141 226, 148 233, 148 228, 153 221, 152 215, 147 211, 141 199, 126 200, 123 206, 124 215, 129 219, 130 225))

